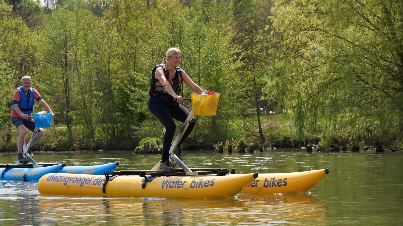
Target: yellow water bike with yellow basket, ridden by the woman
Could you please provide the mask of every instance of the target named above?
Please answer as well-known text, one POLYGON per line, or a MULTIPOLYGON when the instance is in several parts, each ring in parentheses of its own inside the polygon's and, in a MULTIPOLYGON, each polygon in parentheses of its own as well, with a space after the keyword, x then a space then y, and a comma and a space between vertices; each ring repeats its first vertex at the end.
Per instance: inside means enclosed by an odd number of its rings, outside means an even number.
POLYGON ((180 169, 159 171, 160 162, 158 162, 151 170, 121 170, 103 176, 50 173, 40 178, 38 191, 42 194, 95 196, 229 197, 238 193, 305 191, 328 173, 327 169, 323 169, 286 174, 235 174, 235 168, 230 172, 221 168, 188 167, 174 154, 174 151, 189 124, 195 122, 195 115, 215 115, 219 97, 219 94, 217 96, 217 93, 212 91, 207 95, 193 94, 190 114, 169 150, 170 161, 177 164, 180 169), (216 96, 217 100, 209 101, 208 99, 213 96, 216 96), (204 112, 206 109, 207 112, 204 112))

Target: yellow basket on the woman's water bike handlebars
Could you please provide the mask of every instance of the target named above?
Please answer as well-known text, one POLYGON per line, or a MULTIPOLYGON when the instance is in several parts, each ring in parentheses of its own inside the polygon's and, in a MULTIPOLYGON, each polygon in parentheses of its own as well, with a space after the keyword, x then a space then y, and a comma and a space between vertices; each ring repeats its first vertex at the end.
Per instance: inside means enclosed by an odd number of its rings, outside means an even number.
POLYGON ((207 93, 192 93, 193 114, 198 116, 215 116, 220 93, 207 90, 207 93))

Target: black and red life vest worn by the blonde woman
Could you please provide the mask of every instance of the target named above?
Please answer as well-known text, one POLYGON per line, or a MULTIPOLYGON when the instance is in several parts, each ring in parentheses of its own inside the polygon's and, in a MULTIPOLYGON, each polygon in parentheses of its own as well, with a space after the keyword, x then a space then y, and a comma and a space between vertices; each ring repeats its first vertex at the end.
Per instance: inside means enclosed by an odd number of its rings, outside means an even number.
POLYGON ((175 68, 175 75, 173 78, 171 78, 169 76, 168 69, 166 69, 162 65, 158 65, 153 69, 151 75, 150 96, 159 97, 167 102, 175 101, 175 98, 173 98, 173 96, 171 96, 167 92, 167 90, 164 88, 161 82, 155 78, 155 71, 157 70, 158 67, 162 67, 162 69, 164 70, 164 75, 168 80, 169 84, 171 84, 173 91, 178 95, 182 91, 182 71, 180 70, 180 68, 178 67, 175 68))

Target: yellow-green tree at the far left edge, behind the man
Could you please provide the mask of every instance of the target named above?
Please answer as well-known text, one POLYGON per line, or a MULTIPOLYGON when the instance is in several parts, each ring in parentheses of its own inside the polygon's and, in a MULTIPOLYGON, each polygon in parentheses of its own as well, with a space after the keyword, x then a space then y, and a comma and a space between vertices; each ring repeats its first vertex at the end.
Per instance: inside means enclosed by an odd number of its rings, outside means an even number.
POLYGON ((36 51, 36 36, 4 1, 0 1, 0 31, 0 94, 5 97, 0 104, 0 126, 6 133, 7 141, 11 141, 12 95, 20 86, 22 76, 35 74, 37 59, 33 53, 36 51))

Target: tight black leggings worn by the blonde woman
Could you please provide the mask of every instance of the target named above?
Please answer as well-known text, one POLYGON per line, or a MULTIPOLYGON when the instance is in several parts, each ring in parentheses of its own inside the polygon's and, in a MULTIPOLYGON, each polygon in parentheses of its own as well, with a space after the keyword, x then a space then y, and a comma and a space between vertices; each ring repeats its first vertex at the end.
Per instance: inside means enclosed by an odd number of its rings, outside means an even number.
MULTIPOLYGON (((169 158, 169 148, 171 147, 172 139, 176 131, 176 125, 173 119, 184 123, 189 115, 189 111, 181 104, 179 104, 179 106, 166 106, 163 103, 155 102, 148 102, 148 108, 150 109, 150 112, 162 123, 166 130, 162 144, 163 151, 161 157, 161 161, 164 162, 169 158)), ((195 123, 189 124, 187 130, 180 139, 178 146, 180 146, 190 132, 192 132, 194 126, 195 123)))

